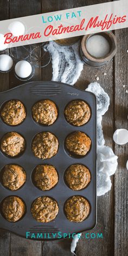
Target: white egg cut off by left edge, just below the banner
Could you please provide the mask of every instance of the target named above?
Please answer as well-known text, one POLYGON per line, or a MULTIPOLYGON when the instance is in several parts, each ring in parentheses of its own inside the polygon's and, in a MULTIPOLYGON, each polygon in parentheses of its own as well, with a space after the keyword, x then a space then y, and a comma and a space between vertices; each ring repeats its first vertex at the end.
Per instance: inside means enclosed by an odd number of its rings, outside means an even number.
POLYGON ((0 55, 0 71, 9 71, 13 66, 12 58, 7 54, 0 55))

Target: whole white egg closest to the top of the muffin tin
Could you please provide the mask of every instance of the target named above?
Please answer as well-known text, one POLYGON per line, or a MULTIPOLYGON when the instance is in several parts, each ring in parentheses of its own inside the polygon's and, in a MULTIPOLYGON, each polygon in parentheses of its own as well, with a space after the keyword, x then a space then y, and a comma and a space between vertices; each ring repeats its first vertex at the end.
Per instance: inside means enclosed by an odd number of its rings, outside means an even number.
POLYGON ((16 63, 15 73, 20 78, 28 78, 31 72, 32 72, 32 67, 28 61, 21 60, 16 63))

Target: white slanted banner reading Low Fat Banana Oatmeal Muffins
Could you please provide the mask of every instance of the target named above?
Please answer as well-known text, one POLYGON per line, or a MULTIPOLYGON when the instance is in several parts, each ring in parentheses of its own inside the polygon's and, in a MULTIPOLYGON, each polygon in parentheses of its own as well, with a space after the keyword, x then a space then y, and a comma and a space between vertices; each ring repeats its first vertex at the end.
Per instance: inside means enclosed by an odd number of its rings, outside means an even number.
POLYGON ((0 21, 0 43, 17 47, 126 28, 127 14, 127 0, 120 0, 0 21))

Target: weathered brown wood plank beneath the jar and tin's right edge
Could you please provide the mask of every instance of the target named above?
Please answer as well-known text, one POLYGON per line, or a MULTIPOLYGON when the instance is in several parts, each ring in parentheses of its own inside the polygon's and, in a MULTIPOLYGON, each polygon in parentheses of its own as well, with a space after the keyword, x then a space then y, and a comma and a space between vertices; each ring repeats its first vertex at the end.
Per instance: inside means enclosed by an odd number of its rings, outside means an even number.
MULTIPOLYGON (((78 1, 74 0, 74 8, 84 5, 104 3, 101 0, 78 1)), ((85 89, 90 82, 95 82, 96 77, 99 78, 99 84, 104 88, 105 92, 110 96, 110 107, 103 117, 103 131, 105 143, 113 148, 113 61, 101 68, 93 68, 84 65, 76 87, 85 89), (104 75, 106 73, 106 75, 104 75)), ((113 183, 113 177, 111 178, 113 183)), ((77 256, 84 255, 114 255, 114 239, 113 239, 113 184, 111 191, 104 196, 98 197, 98 214, 97 226, 88 233, 103 233, 104 239, 80 239, 76 247, 77 256)))

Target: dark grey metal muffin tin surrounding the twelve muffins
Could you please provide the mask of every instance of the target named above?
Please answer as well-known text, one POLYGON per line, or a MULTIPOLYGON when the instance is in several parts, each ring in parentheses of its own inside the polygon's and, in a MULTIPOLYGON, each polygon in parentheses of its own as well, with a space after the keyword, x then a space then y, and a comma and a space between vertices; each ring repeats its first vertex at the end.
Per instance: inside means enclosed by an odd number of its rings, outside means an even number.
MULTIPOLYGON (((39 81, 29 82, 12 88, 9 91, 1 92, 0 106, 2 106, 6 101, 12 99, 20 100, 24 104, 27 110, 27 117, 23 123, 17 126, 9 126, 0 119, 1 138, 7 132, 16 131, 25 138, 27 146, 23 155, 18 157, 8 157, 0 151, 0 169, 2 171, 6 164, 18 164, 25 170, 27 180, 23 187, 16 191, 8 190, 1 182, 0 202, 10 195, 19 196, 25 202, 27 210, 24 217, 17 222, 9 222, 5 220, 3 215, 0 213, 0 228, 23 237, 26 237, 26 232, 30 232, 30 235, 32 233, 35 233, 35 235, 37 233, 46 233, 46 238, 43 236, 43 239, 41 240, 47 240, 48 233, 50 235, 51 233, 62 232, 63 237, 63 233, 80 233, 93 228, 97 219, 97 107, 95 95, 91 92, 82 91, 78 88, 60 82, 39 81), (59 116, 53 125, 39 125, 31 116, 31 108, 37 101, 42 99, 50 99, 54 101, 59 110, 59 116), (88 123, 79 127, 67 123, 64 115, 65 106, 69 101, 75 99, 84 100, 91 108, 91 118, 88 123), (34 136, 43 131, 52 132, 59 140, 59 150, 56 155, 50 159, 44 160, 35 157, 31 150, 31 142, 34 136), (69 133, 74 131, 85 132, 92 140, 91 150, 82 158, 72 157, 65 150, 65 138, 69 133), (76 163, 84 164, 91 172, 91 182, 85 189, 79 191, 73 191, 70 189, 66 185, 64 179, 66 169, 69 165, 76 163), (57 173, 59 174, 59 182, 54 188, 48 191, 41 191, 39 188, 35 187, 32 181, 33 170, 40 164, 54 165, 57 173), (85 197, 91 206, 89 216, 82 222, 76 223, 69 221, 63 210, 66 200, 73 195, 85 197), (51 222, 37 222, 31 215, 31 204, 40 196, 52 197, 59 205, 59 214, 51 222)), ((56 237, 52 239, 55 240, 56 237)))

